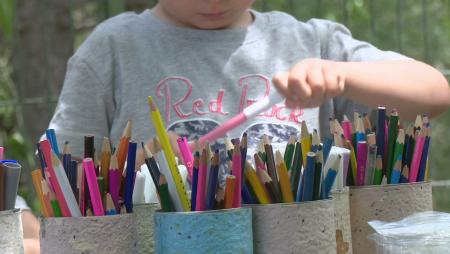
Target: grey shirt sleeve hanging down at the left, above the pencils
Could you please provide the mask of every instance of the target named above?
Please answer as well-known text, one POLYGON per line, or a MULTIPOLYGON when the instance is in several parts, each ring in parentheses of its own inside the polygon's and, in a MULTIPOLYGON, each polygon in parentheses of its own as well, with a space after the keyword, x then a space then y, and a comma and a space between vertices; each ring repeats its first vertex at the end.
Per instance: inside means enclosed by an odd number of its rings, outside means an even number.
MULTIPOLYGON (((85 135, 94 135, 96 140, 109 136, 113 112, 112 86, 102 83, 81 57, 73 56, 68 62, 64 86, 50 122, 58 145, 68 141, 72 154, 81 156, 85 135)), ((97 149, 99 145, 96 144, 97 149)))

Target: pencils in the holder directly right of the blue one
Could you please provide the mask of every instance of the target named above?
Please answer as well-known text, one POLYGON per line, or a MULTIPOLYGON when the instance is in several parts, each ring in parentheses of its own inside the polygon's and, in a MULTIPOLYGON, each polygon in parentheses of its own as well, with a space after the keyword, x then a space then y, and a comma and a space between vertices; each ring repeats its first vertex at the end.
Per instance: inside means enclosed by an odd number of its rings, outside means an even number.
POLYGON ((300 138, 291 135, 284 155, 280 151, 274 153, 268 137, 263 137, 259 151, 253 155, 255 167, 250 161, 245 162, 243 186, 247 186, 250 197, 244 199, 243 191, 244 203, 289 203, 329 197, 338 172, 348 164, 348 156, 343 151, 329 156, 331 142, 321 143, 317 130, 310 134, 305 122, 301 128, 300 138))

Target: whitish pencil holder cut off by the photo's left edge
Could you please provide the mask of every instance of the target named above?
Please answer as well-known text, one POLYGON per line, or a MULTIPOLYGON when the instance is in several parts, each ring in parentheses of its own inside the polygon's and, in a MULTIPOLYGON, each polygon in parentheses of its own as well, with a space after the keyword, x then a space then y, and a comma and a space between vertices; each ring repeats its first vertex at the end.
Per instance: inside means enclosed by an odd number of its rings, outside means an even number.
POLYGON ((0 253, 24 253, 19 209, 0 211, 0 253))

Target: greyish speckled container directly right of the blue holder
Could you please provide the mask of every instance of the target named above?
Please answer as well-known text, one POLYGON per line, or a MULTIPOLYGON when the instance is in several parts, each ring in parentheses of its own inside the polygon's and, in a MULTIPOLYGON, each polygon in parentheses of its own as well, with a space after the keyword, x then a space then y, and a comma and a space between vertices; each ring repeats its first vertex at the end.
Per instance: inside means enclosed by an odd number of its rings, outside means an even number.
POLYGON ((336 253, 332 200, 249 207, 256 254, 336 253))

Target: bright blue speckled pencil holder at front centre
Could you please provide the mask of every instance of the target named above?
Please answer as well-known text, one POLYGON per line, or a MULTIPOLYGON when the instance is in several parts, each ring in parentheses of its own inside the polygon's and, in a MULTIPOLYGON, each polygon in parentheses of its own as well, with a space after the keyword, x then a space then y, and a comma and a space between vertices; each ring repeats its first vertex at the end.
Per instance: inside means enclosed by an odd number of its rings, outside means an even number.
POLYGON ((253 253, 252 211, 155 213, 156 253, 253 253))

